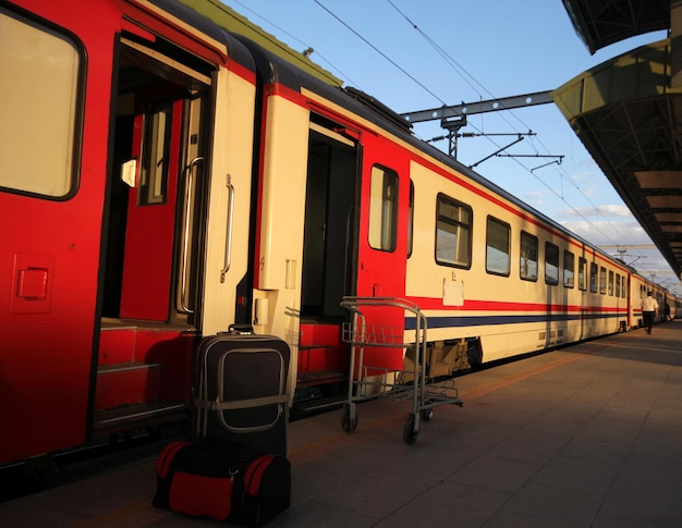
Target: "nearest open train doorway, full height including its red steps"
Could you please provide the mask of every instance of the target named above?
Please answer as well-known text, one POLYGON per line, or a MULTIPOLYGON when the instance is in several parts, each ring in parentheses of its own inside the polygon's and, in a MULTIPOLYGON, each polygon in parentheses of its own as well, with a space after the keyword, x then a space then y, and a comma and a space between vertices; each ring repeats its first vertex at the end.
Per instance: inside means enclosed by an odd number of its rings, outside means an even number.
POLYGON ((153 45, 121 41, 95 433, 187 412, 211 69, 153 45))

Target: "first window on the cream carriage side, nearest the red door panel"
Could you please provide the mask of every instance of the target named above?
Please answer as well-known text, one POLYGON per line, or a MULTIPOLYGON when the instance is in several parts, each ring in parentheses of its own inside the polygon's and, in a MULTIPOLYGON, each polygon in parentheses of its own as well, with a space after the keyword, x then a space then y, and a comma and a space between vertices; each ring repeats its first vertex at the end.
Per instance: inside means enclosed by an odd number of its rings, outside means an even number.
POLYGON ((470 268, 472 262, 472 208, 438 195, 436 217, 436 262, 470 268))

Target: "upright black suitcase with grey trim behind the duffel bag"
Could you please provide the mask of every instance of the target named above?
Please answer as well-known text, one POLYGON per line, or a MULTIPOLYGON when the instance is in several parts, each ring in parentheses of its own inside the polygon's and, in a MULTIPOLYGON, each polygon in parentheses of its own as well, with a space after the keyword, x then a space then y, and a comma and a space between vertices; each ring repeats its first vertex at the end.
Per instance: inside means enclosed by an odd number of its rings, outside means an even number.
POLYGON ((271 335, 206 337, 196 365, 196 439, 287 456, 289 363, 289 345, 271 335))

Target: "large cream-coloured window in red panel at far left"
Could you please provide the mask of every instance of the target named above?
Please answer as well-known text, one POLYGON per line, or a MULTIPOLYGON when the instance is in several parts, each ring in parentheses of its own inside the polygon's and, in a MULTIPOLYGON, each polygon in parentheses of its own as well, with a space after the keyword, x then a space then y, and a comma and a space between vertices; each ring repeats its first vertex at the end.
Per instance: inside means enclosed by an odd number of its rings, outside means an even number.
POLYGON ((51 198, 73 191, 81 62, 65 37, 0 11, 0 187, 51 198))

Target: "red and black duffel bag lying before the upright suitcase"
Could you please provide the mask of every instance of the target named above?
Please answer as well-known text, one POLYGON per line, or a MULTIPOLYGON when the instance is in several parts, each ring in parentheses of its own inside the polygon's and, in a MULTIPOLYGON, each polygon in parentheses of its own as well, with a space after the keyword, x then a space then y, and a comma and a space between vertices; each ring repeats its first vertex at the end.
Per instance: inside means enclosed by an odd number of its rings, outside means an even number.
POLYGON ((239 454, 229 445, 173 442, 157 459, 156 507, 263 526, 291 502, 291 465, 275 454, 239 454))

